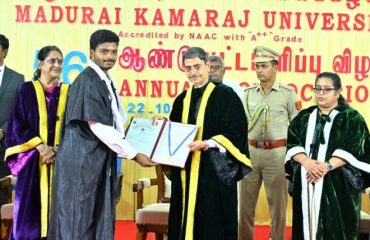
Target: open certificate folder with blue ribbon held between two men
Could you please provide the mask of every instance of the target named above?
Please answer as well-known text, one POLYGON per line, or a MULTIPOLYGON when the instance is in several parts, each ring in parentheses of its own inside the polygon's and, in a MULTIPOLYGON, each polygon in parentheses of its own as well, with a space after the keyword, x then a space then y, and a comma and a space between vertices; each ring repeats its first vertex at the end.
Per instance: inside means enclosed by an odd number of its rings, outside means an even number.
POLYGON ((188 145, 194 141, 198 127, 165 119, 156 126, 152 122, 149 118, 133 117, 126 140, 154 162, 183 168, 190 152, 188 145))

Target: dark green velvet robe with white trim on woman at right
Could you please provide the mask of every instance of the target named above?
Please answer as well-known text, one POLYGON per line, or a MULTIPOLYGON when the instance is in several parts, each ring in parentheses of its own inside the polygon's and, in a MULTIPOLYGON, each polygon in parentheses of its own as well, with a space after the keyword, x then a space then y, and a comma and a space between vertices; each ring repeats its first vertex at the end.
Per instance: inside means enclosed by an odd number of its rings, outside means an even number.
MULTIPOLYGON (((308 239, 308 207, 306 170, 291 157, 297 153, 309 155, 317 121, 317 106, 302 110, 288 130, 287 163, 293 165, 293 235, 292 239, 308 239)), ((358 239, 361 192, 356 190, 344 171, 352 167, 370 173, 369 130, 364 118, 354 109, 337 106, 329 114, 330 121, 323 129, 325 143, 312 152, 321 162, 332 156, 346 161, 346 165, 328 172, 315 184, 316 239, 358 239)), ((287 166, 286 166, 287 167, 287 166)), ((286 168, 290 169, 290 167, 286 168)), ((368 185, 370 182, 367 183, 368 185)))

